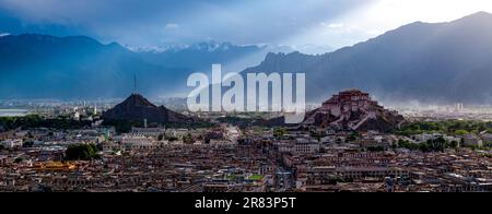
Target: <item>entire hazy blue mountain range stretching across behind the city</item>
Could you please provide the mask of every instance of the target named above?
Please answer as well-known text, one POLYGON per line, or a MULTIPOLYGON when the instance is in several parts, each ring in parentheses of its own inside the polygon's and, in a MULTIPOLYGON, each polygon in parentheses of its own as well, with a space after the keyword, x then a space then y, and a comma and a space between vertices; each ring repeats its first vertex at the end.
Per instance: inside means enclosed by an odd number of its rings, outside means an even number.
POLYGON ((246 68, 260 57, 259 66, 243 72, 304 72, 308 102, 356 87, 382 102, 490 104, 491 29, 492 14, 479 12, 447 23, 411 23, 316 56, 218 43, 131 51, 84 36, 8 35, 0 37, 0 97, 124 97, 134 74, 138 91, 150 97, 186 95, 191 72, 210 71, 212 63, 243 61, 246 68))

